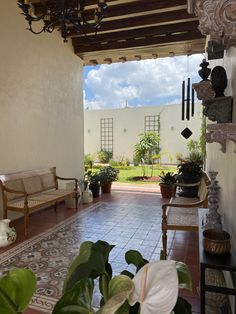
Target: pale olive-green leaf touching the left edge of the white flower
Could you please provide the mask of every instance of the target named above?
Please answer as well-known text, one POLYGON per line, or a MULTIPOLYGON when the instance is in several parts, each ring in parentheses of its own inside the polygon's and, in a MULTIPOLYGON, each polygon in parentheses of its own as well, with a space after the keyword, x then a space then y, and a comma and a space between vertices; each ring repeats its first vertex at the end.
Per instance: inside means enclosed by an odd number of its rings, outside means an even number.
POLYGON ((111 279, 108 286, 108 301, 96 313, 98 314, 128 314, 129 305, 125 303, 133 291, 133 281, 125 276, 118 275, 111 279), (125 303, 125 304, 124 304, 125 303))

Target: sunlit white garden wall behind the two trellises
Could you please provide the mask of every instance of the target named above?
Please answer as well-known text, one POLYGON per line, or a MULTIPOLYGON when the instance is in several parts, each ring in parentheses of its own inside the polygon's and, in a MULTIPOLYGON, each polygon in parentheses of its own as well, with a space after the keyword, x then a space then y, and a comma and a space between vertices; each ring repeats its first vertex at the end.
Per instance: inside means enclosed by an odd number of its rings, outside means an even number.
MULTIPOLYGON (((138 134, 144 132, 144 117, 160 114, 160 146, 162 151, 167 150, 172 155, 172 163, 176 163, 175 154, 182 153, 186 156, 188 140, 199 138, 202 107, 200 104, 195 107, 195 116, 189 122, 181 120, 180 105, 86 110, 84 112, 85 153, 93 154, 101 149, 100 119, 113 118, 114 159, 119 160, 123 156, 132 161, 134 145, 139 139, 138 134), (186 126, 193 132, 188 140, 180 134, 186 126)), ((171 163, 167 155, 162 157, 162 162, 171 163)))

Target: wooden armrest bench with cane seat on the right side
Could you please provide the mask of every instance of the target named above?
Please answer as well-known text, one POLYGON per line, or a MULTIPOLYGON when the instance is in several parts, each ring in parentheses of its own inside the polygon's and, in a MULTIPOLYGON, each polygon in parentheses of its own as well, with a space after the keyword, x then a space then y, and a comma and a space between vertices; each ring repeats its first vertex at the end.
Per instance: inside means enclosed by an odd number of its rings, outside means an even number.
POLYGON ((208 207, 207 185, 210 180, 203 173, 200 182, 193 184, 176 183, 176 186, 198 186, 198 196, 194 198, 173 196, 169 203, 162 205, 162 247, 163 255, 167 255, 167 230, 198 230, 198 208, 208 207))

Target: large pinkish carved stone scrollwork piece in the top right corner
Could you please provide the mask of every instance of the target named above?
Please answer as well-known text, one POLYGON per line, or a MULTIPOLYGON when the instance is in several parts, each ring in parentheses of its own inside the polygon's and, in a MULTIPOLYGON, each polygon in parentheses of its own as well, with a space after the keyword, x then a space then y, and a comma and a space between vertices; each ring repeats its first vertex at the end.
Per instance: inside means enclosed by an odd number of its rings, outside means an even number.
POLYGON ((223 39, 226 47, 236 47, 236 1, 195 0, 194 13, 199 18, 199 30, 211 40, 223 39))

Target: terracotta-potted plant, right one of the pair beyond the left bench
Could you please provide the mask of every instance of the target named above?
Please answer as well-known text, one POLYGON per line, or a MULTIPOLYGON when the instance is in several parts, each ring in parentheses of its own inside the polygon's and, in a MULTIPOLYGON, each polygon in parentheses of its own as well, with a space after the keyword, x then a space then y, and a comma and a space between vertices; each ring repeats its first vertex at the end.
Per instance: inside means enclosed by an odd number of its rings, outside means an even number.
POLYGON ((119 170, 111 166, 103 167, 99 172, 102 193, 110 193, 113 181, 118 179, 119 170))

